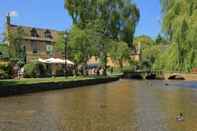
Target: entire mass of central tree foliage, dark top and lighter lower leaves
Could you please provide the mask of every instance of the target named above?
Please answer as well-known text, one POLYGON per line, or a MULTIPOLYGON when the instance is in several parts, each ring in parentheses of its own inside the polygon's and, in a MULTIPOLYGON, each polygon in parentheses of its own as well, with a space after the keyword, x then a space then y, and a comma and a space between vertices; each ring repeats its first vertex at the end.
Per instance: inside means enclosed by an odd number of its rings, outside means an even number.
POLYGON ((65 0, 65 8, 74 23, 68 40, 71 59, 85 64, 96 56, 106 74, 111 55, 122 67, 139 20, 135 4, 131 0, 65 0), (117 56, 112 50, 118 51, 117 56))

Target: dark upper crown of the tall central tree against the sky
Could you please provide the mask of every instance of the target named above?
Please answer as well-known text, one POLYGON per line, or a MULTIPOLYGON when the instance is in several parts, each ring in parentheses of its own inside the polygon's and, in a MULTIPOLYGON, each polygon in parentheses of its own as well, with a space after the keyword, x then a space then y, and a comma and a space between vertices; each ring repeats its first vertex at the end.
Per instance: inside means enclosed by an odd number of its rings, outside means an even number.
POLYGON ((105 36, 132 45, 140 14, 131 0, 65 0, 65 8, 80 28, 99 19, 105 36))

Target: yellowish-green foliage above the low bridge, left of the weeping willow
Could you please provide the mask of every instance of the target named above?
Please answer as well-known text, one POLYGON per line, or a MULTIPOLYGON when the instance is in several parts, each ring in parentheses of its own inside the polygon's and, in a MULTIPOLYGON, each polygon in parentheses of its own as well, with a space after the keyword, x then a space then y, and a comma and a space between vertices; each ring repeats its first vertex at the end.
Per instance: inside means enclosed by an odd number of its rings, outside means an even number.
POLYGON ((159 65, 157 64, 159 64, 158 61, 164 62, 166 60, 165 57, 161 59, 160 55, 164 54, 168 46, 168 41, 164 37, 158 35, 154 41, 146 35, 138 36, 134 39, 134 45, 139 46, 141 51, 141 61, 138 63, 139 69, 148 71, 161 70, 161 68, 158 69, 157 66, 159 65))

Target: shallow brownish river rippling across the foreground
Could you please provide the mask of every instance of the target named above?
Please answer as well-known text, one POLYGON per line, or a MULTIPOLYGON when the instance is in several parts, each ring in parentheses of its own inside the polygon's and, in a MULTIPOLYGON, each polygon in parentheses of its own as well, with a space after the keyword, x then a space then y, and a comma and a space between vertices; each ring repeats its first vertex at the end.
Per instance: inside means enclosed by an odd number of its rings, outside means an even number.
POLYGON ((120 80, 2 97, 0 131, 196 131, 197 88, 189 85, 120 80))

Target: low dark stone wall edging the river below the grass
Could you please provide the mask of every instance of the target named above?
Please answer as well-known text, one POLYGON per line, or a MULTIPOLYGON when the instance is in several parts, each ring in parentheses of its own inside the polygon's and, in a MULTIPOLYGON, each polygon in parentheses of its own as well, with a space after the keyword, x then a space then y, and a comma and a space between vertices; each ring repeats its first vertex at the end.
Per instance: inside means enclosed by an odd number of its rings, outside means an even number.
POLYGON ((108 83, 119 80, 119 77, 106 77, 106 78, 95 78, 88 80, 77 80, 77 81, 65 81, 65 82, 49 82, 49 83, 38 83, 31 85, 15 85, 15 86, 1 86, 0 97, 26 94, 40 91, 57 90, 74 88, 88 85, 96 85, 101 83, 108 83))

